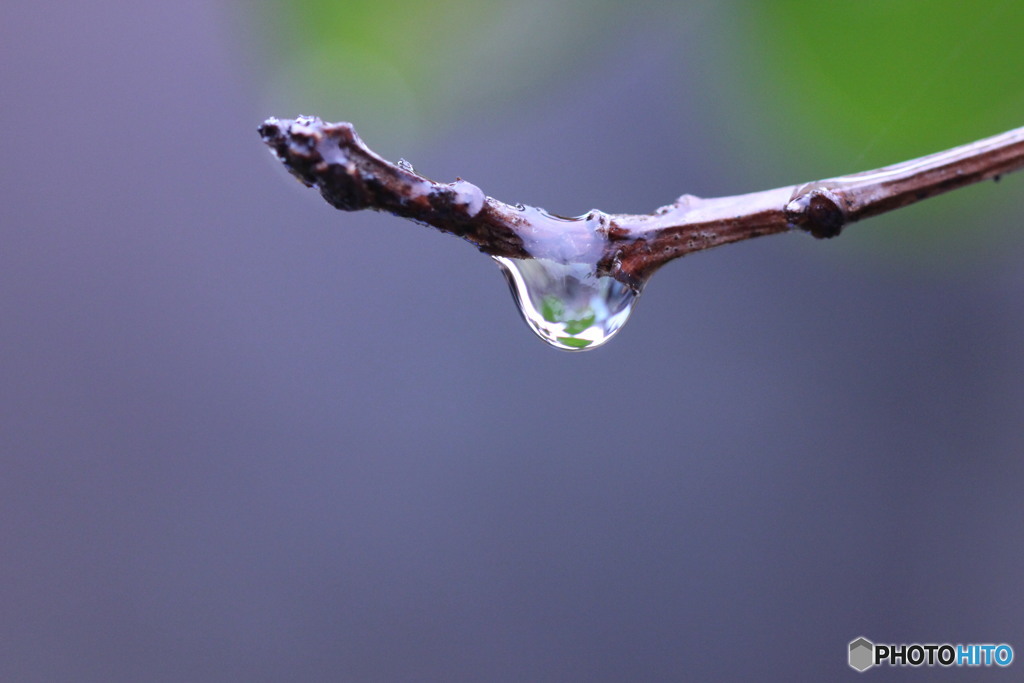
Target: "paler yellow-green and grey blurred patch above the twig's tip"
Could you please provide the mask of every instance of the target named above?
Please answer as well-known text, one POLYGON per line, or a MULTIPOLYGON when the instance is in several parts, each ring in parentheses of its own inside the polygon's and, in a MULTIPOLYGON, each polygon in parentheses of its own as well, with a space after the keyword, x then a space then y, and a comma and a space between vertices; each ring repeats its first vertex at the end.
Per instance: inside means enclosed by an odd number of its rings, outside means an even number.
POLYGON ((292 95, 325 118, 359 122, 367 136, 406 143, 421 128, 444 129, 488 106, 507 110, 571 74, 618 11, 584 0, 272 6, 281 81, 292 95))

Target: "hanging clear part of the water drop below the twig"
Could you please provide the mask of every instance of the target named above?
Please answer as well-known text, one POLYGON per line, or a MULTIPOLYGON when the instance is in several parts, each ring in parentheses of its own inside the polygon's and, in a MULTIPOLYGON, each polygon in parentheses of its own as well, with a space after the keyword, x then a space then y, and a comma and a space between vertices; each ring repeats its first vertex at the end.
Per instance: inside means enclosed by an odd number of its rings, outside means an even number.
POLYGON ((568 351, 596 348, 626 324, 640 296, 594 264, 495 256, 523 319, 541 339, 568 351))

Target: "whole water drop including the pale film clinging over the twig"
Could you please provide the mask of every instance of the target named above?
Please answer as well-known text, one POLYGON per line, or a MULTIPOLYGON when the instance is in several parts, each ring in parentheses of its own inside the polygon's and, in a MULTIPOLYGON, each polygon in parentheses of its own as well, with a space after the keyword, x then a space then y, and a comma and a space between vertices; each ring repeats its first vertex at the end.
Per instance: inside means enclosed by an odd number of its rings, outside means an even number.
POLYGON ((607 251, 600 211, 579 218, 552 216, 523 207, 527 219, 519 231, 534 258, 494 259, 502 266, 526 324, 557 348, 596 348, 618 332, 640 297, 642 284, 627 284, 599 273, 607 251))

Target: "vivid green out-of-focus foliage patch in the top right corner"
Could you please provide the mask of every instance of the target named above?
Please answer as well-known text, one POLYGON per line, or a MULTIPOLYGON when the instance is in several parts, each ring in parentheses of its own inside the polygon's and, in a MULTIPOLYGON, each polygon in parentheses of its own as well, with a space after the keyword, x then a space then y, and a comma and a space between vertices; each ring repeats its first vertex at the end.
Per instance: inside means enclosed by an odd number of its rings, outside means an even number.
POLYGON ((777 0, 737 16, 752 90, 838 161, 892 163, 1024 122, 1019 0, 777 0))

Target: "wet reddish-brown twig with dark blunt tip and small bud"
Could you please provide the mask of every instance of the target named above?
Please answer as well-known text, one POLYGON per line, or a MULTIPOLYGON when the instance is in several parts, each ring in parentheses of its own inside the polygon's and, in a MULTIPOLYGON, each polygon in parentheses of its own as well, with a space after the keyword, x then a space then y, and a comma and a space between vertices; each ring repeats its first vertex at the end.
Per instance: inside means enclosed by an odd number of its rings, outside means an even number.
POLYGON ((268 119, 259 128, 299 180, 345 211, 375 209, 427 223, 480 251, 510 258, 594 264, 638 285, 672 259, 794 228, 833 238, 861 218, 1024 167, 1024 128, 854 175, 767 191, 690 195, 651 214, 594 210, 574 219, 485 197, 462 179, 438 183, 370 151, 348 123, 268 119))

